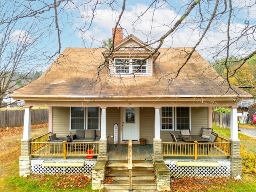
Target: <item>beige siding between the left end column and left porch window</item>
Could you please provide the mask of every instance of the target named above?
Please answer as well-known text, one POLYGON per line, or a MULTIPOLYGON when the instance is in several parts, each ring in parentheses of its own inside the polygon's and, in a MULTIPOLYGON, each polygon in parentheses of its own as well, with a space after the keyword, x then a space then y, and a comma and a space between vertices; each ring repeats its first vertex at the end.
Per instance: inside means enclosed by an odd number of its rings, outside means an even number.
MULTIPOLYGON (((56 133, 57 137, 67 136, 70 133, 69 130, 69 107, 53 107, 52 112, 52 132, 56 133)), ((75 132, 72 132, 75 134, 75 132)))

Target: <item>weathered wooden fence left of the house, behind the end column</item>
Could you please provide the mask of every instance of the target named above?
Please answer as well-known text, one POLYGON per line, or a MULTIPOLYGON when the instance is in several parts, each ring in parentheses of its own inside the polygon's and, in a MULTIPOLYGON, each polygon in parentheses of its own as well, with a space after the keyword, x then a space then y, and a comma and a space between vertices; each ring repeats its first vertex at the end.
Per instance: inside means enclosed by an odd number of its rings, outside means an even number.
MULTIPOLYGON (((0 127, 18 127, 24 124, 25 110, 1 110, 0 127)), ((32 109, 31 124, 48 123, 48 108, 32 109)))

